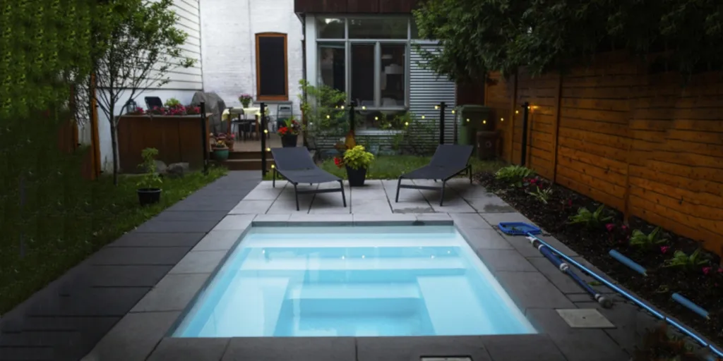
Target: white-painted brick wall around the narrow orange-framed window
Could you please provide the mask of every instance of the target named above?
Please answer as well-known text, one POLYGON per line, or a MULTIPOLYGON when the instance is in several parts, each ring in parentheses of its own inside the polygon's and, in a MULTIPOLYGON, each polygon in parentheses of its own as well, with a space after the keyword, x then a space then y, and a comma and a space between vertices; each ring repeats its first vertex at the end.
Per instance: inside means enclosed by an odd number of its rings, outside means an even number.
MULTIPOLYGON (((259 32, 286 34, 288 100, 299 111, 303 76, 301 21, 294 0, 200 0, 203 89, 215 92, 228 106, 240 106, 239 95, 256 97, 256 38, 259 32)), ((270 107, 272 112, 275 107, 270 107)))

